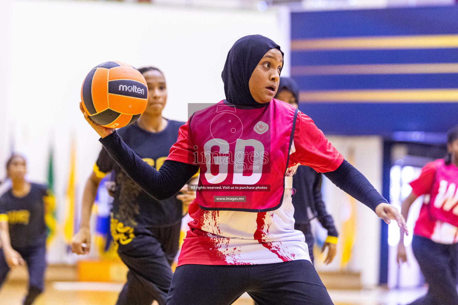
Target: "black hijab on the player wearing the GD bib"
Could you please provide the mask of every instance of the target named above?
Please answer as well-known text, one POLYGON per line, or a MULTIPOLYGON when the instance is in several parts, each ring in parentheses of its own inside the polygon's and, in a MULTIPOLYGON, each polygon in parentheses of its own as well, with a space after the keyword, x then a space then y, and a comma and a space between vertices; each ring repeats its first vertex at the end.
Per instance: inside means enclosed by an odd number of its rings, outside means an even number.
MULTIPOLYGON (((226 100, 232 104, 258 104, 250 93, 248 82, 256 65, 268 50, 280 46, 262 35, 248 35, 237 40, 229 50, 221 77, 226 100)), ((283 52, 282 52, 282 55, 283 52)))

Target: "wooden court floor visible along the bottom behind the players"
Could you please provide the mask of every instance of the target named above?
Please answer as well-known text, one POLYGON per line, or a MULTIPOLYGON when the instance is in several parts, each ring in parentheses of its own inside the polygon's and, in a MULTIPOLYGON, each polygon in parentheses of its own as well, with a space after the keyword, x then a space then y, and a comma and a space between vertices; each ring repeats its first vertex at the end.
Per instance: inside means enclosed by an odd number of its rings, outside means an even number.
MULTIPOLYGON (((21 305, 25 282, 9 281, 0 290, 0 305, 21 305)), ((34 305, 114 305, 122 284, 87 282, 49 282, 34 305)), ((408 304, 425 293, 425 289, 397 290, 329 290, 335 305, 408 304)), ((153 303, 153 305, 157 303, 153 303)), ((234 305, 253 305, 242 296, 234 305)))

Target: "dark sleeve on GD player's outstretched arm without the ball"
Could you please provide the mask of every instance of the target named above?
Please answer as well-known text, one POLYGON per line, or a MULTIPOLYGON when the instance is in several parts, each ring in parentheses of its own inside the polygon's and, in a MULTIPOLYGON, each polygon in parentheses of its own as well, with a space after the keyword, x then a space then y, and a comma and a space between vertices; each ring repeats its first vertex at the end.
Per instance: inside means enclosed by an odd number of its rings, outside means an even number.
POLYGON ((365 204, 374 212, 380 203, 388 203, 372 186, 371 182, 346 160, 337 170, 323 174, 345 193, 365 204))

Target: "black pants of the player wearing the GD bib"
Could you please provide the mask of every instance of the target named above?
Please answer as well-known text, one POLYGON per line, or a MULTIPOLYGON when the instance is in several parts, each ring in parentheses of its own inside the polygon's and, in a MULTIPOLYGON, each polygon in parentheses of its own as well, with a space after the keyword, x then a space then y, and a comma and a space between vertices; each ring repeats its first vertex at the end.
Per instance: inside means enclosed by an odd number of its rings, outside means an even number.
POLYGON ((182 265, 167 305, 229 305, 247 292, 258 305, 333 305, 307 260, 259 265, 182 265))

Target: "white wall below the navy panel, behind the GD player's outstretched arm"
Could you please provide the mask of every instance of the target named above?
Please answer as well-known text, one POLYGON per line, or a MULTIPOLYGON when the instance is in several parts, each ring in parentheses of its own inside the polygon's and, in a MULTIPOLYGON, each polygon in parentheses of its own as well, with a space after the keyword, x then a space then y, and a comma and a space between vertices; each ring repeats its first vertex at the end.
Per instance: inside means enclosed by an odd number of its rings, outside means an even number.
MULTIPOLYGON (((372 185, 382 192, 382 139, 380 137, 341 137, 329 136, 329 141, 367 177, 372 185), (353 156, 350 156, 353 154, 353 156), (353 159, 353 161, 352 161, 353 159)), ((319 261, 315 267, 319 270, 338 270, 342 254, 342 223, 346 219, 345 205, 349 196, 336 187, 326 177, 323 179, 323 198, 328 212, 333 215, 339 234, 336 259, 325 266, 319 261)), ((361 273, 361 283, 366 288, 378 284, 380 266, 380 219, 364 204, 356 202, 356 234, 348 270, 361 273)))

